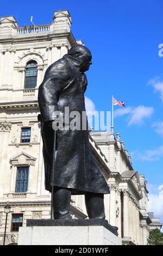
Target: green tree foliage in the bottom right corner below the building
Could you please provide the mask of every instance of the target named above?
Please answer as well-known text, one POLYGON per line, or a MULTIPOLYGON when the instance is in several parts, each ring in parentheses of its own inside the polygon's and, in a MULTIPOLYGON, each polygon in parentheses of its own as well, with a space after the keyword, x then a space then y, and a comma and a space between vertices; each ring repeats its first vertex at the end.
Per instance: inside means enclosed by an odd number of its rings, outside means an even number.
POLYGON ((148 245, 163 245, 163 233, 158 228, 149 231, 148 245))

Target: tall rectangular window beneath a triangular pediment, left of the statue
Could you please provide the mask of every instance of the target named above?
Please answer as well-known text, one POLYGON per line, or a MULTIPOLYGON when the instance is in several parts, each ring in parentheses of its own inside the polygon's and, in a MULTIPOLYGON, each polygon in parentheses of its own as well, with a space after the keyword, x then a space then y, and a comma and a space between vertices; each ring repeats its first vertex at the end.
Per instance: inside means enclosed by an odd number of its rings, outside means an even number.
POLYGON ((27 192, 28 188, 28 172, 29 167, 18 167, 17 168, 17 179, 16 179, 16 191, 15 192, 27 192))

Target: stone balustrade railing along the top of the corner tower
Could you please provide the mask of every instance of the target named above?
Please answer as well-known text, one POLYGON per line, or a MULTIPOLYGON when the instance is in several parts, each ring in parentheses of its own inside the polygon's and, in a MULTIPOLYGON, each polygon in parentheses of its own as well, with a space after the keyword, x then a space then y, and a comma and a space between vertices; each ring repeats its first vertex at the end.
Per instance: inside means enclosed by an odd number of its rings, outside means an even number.
POLYGON ((17 34, 29 34, 50 31, 50 26, 30 26, 17 28, 17 34))

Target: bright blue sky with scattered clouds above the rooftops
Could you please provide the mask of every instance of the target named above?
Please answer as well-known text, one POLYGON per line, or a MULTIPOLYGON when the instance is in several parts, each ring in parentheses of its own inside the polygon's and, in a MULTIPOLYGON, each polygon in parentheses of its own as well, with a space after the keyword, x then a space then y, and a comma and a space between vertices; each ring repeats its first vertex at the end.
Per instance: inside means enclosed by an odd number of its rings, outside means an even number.
POLYGON ((35 24, 51 23, 53 11, 59 9, 70 11, 73 35, 92 52, 86 96, 95 109, 110 111, 111 95, 126 103, 126 109, 114 108, 115 133, 121 133, 134 169, 145 174, 149 209, 163 221, 163 57, 158 55, 163 2, 2 1, 1 16, 18 17, 19 26, 29 25, 31 15, 35 24))

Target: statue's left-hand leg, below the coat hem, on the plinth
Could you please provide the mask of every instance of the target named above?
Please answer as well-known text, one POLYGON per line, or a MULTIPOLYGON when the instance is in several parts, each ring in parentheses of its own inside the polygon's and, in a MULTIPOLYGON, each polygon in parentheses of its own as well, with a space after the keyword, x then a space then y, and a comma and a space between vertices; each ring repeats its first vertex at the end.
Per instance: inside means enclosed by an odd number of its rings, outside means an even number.
POLYGON ((54 187, 53 212, 54 219, 67 220, 70 215, 71 190, 68 188, 54 187))

